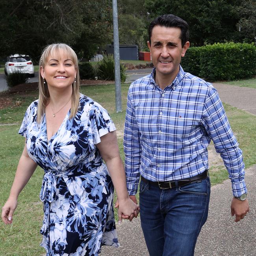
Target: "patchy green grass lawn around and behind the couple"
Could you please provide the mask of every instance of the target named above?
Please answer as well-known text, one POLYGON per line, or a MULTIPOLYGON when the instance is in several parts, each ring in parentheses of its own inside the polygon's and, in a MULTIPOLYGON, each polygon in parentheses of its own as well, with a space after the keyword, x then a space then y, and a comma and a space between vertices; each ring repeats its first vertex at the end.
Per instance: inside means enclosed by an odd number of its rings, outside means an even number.
MULTIPOLYGON (((124 126, 128 87, 128 84, 122 84, 123 111, 121 113, 115 113, 115 85, 82 87, 83 94, 90 96, 109 111, 120 133, 122 133, 124 126)), ((37 98, 37 94, 8 95, 8 97, 13 100, 13 107, 0 110, 0 124, 2 124, 0 125, 0 208, 8 198, 17 163, 24 147, 24 138, 17 134, 20 123, 26 108, 30 102, 37 98), (22 102, 19 107, 15 106, 17 101, 22 102)), ((245 166, 248 168, 256 163, 256 143, 254 143, 256 141, 256 117, 228 105, 224 105, 224 108, 232 130, 243 150, 245 166)), ((119 148, 121 157, 124 159, 121 137, 119 137, 119 148)), ((43 207, 39 201, 42 178, 43 170, 38 167, 20 194, 13 224, 6 226, 0 221, 0 255, 43 255, 44 249, 39 246, 41 243, 39 230, 43 220, 43 207)), ((210 178, 212 184, 217 184, 226 180, 228 174, 223 167, 220 167, 215 171, 210 171, 210 178)))

